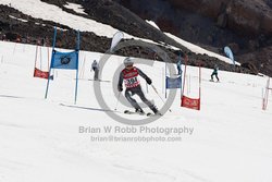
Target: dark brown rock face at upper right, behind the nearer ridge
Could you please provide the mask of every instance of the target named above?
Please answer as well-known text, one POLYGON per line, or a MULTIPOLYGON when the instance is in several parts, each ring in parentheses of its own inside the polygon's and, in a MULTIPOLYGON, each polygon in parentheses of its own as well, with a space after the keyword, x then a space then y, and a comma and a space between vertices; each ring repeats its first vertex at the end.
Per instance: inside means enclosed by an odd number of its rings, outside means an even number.
MULTIPOLYGON (((238 62, 250 62, 246 54, 255 51, 269 62, 270 57, 259 53, 272 46, 271 0, 114 0, 139 16, 152 20, 164 32, 214 50, 233 48, 238 62), (245 54, 245 57, 243 57, 245 54), (240 60, 243 58, 243 60, 240 60)), ((219 51, 222 52, 222 51, 219 51)), ((267 54, 267 53, 265 53, 267 54)), ((272 75, 272 65, 259 66, 272 75)))

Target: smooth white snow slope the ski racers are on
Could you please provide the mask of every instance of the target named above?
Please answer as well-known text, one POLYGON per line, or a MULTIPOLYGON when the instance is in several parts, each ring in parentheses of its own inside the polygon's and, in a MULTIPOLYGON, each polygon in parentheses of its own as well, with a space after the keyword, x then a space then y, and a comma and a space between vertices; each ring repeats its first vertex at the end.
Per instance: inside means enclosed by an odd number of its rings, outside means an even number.
MULTIPOLYGON (((104 126, 131 128, 114 121, 100 108, 94 94, 90 64, 101 54, 79 53, 77 105, 75 71, 54 71, 48 99, 47 81, 33 77, 35 46, 0 43, 0 181, 1 182, 270 182, 272 181, 272 101, 261 110, 267 78, 219 72, 221 83, 209 82, 212 70, 202 69, 201 110, 180 107, 177 93, 172 112, 147 124, 148 129, 191 129, 191 133, 103 132, 104 126), (85 63, 84 63, 85 60, 85 63), (62 104, 62 105, 60 105, 62 104), (64 105, 64 106, 63 106, 64 105), (101 133, 79 133, 79 126, 101 133), (171 137, 172 142, 94 142, 91 136, 171 137)), ((49 50, 51 54, 51 49, 49 50)), ((47 48, 38 57, 47 69, 47 48), (40 59, 41 58, 41 59, 40 59)), ((114 110, 112 77, 122 57, 104 66, 102 95, 114 110)), ((151 60, 150 60, 151 61, 151 60)), ((41 63, 40 63, 41 62, 41 63)), ((163 96, 164 64, 138 64, 163 96)), ((185 90, 194 95, 197 68, 188 68, 185 90)), ((143 89, 160 108, 162 102, 145 81, 143 89)), ((270 95, 271 96, 271 95, 270 95)), ((271 98, 271 97, 270 97, 271 98)), ((128 109, 119 104, 118 111, 128 109)), ((149 111, 148 108, 145 108, 149 111)), ((121 117, 127 117, 116 112, 121 117)), ((141 116, 128 116, 137 122, 141 116)), ((134 126, 139 129, 139 126, 134 126)))

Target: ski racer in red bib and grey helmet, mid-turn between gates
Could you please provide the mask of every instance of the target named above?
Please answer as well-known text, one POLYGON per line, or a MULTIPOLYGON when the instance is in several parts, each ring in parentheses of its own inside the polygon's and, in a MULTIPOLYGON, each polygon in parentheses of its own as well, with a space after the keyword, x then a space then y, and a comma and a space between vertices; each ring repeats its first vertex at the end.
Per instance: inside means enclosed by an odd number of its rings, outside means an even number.
POLYGON ((118 89, 119 92, 123 90, 123 81, 125 83, 125 98, 129 101, 129 104, 135 108, 135 112, 144 114, 144 110, 137 104, 137 101, 132 98, 133 95, 138 95, 139 98, 153 111, 154 114, 160 114, 158 109, 151 101, 149 101, 141 90, 141 86, 138 80, 138 75, 144 77, 147 84, 151 85, 152 81, 138 68, 133 66, 134 62, 132 58, 126 58, 124 60, 125 69, 121 71, 119 76, 118 89))

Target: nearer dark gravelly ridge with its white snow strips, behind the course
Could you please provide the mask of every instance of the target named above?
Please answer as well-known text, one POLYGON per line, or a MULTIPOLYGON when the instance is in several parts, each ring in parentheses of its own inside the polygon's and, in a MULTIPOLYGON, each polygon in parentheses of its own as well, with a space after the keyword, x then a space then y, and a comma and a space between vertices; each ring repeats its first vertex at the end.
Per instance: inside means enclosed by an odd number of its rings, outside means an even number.
MULTIPOLYGON (((202 60, 206 68, 213 68, 214 64, 218 64, 221 70, 233 71, 232 65, 219 61, 231 62, 228 58, 211 54, 201 49, 194 52, 188 49, 185 41, 165 35, 115 2, 84 1, 75 4, 65 1, 27 0, 14 3, 11 0, 2 0, 1 4, 3 4, 1 5, 2 12, 0 12, 2 34, 8 34, 10 39, 20 36, 23 43, 33 44, 46 39, 49 46, 52 45, 53 26, 58 26, 64 31, 59 31, 61 37, 59 37, 57 46, 61 44, 64 48, 74 48, 74 29, 79 29, 83 50, 106 52, 109 49, 111 37, 119 29, 126 33, 124 37, 126 40, 140 38, 150 44, 159 44, 168 52, 169 61, 175 62, 178 57, 176 49, 181 49, 184 53, 190 54, 189 64, 196 65, 198 60, 202 60)), ((137 48, 128 47, 127 50, 121 49, 115 53, 152 59, 148 51, 146 49, 137 51, 137 48)), ((235 71, 256 74, 256 70, 250 71, 248 68, 250 66, 237 66, 235 71)))

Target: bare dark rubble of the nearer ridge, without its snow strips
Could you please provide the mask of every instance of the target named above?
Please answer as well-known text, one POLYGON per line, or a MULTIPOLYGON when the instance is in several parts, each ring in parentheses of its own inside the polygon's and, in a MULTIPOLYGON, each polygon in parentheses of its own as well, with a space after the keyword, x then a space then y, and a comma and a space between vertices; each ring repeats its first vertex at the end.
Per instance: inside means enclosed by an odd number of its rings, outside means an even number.
MULTIPOLYGON (((137 37, 152 39, 157 43, 164 41, 165 44, 174 45, 175 47, 181 48, 184 51, 184 53, 189 56, 190 58, 189 64, 191 65, 197 65, 199 60, 201 60, 203 66, 213 68, 214 64, 219 64, 221 70, 234 71, 232 65, 226 64, 222 61, 219 61, 215 58, 210 58, 206 54, 196 54, 194 52, 190 52, 189 50, 184 48, 182 45, 177 44, 173 39, 166 37, 160 31, 147 24, 136 13, 133 13, 132 11, 129 11, 129 9, 126 9, 125 5, 123 7, 121 2, 115 2, 111 0, 100 0, 100 1, 42 0, 42 1, 61 7, 63 11, 67 11, 73 14, 77 14, 77 13, 74 12, 73 10, 66 9, 64 4, 66 2, 79 3, 84 7, 85 12, 87 13, 87 15, 83 15, 83 16, 87 19, 92 19, 98 22, 109 24, 118 29, 121 29, 123 32, 126 32, 137 37)), ((65 37, 64 39, 58 40, 60 45, 64 48, 73 48, 74 40, 71 39, 70 37, 74 37, 74 36, 70 36, 70 35, 72 35, 74 31, 71 29, 70 27, 61 25, 61 24, 55 24, 54 22, 33 19, 8 5, 1 5, 0 10, 1 10, 0 11, 1 33, 17 34, 22 37, 22 39, 24 39, 24 41, 30 41, 33 44, 36 44, 37 39, 46 37, 48 44, 50 45, 51 37, 53 34, 52 27, 57 25, 59 27, 70 29, 67 33, 64 34, 64 37, 65 37), (12 19, 10 15, 13 15, 15 17, 23 17, 24 20, 27 20, 28 22, 16 21, 12 19), (37 24, 37 22, 39 22, 39 24, 37 24), (46 26, 41 26, 41 24, 46 24, 46 26), (25 29, 27 29, 27 32, 25 29)), ((82 15, 82 14, 77 14, 77 15, 82 15)), ((89 33, 89 32, 82 33, 82 49, 83 50, 104 52, 106 50, 109 49, 110 41, 111 41, 110 38, 99 37, 95 35, 94 33, 89 33)), ((217 47, 212 47, 210 45, 205 45, 205 44, 202 44, 202 46, 207 46, 208 48, 213 49, 213 51, 219 50, 220 52, 220 49, 217 47)), ((175 50, 164 48, 164 47, 162 48, 169 53, 171 58, 170 61, 175 62, 178 53, 175 50)), ((124 50, 120 50, 115 53, 122 54, 122 56, 134 56, 134 57, 153 59, 152 54, 150 54, 150 52, 148 52, 147 50, 141 49, 141 48, 135 48, 135 47, 125 48, 124 50)), ((245 68, 236 68, 235 71, 255 73, 255 74, 258 72, 257 66, 255 66, 251 63, 244 64, 244 66, 245 68)))

